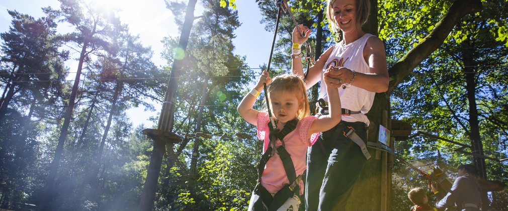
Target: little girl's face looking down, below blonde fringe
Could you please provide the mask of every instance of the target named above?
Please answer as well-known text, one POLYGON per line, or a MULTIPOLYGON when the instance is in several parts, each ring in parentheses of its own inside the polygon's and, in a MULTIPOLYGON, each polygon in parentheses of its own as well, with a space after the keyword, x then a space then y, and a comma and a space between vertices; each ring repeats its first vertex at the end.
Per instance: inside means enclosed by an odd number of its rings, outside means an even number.
POLYGON ((293 120, 302 108, 302 103, 294 93, 288 91, 274 91, 270 93, 272 111, 275 118, 286 123, 293 120))

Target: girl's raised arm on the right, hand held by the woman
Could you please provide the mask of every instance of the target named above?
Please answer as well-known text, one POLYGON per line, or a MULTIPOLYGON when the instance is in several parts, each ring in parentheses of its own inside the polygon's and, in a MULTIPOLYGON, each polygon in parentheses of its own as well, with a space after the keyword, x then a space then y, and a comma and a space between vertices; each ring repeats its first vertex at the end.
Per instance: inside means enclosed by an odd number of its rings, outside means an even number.
POLYGON ((328 67, 326 72, 323 74, 323 78, 326 83, 326 91, 328 93, 328 115, 322 115, 319 119, 314 120, 309 129, 308 136, 312 133, 324 132, 332 129, 342 119, 342 105, 340 104, 339 90, 341 84, 334 84, 330 80, 330 72, 337 71, 333 66, 328 67))

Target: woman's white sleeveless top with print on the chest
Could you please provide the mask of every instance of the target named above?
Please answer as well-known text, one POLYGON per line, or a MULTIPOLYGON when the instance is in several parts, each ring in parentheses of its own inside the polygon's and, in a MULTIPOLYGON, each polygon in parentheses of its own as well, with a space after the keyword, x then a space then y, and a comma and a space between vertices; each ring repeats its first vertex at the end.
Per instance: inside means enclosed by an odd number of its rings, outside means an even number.
MULTIPOLYGON (((366 33, 360 39, 345 46, 342 46, 340 43, 335 44, 330 57, 325 63, 323 73, 325 73, 326 69, 330 65, 333 65, 335 67, 344 66, 349 69, 354 69, 357 73, 371 74, 369 65, 363 58, 363 49, 370 37, 373 37, 373 35, 366 33)), ((348 83, 348 81, 344 81, 343 83, 348 83)), ((355 82, 353 82, 353 86, 350 88, 342 89, 342 87, 340 87, 338 89, 343 109, 362 112, 360 114, 342 116, 342 120, 346 122, 364 122, 369 125, 369 119, 365 116, 365 114, 367 114, 372 107, 375 93, 356 87, 355 82)), ((328 101, 326 83, 323 79, 323 74, 321 74, 321 90, 319 98, 323 98, 325 101, 328 101)))

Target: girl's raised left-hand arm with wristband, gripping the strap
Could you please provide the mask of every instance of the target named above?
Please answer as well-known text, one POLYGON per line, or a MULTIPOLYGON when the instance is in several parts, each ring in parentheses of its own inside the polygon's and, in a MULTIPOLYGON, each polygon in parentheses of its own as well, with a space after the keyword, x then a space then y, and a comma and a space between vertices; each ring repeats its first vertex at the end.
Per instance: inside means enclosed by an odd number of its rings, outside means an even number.
POLYGON ((252 105, 256 102, 258 95, 263 91, 263 84, 269 84, 272 79, 268 75, 267 71, 263 71, 263 74, 259 77, 258 84, 252 90, 247 93, 236 108, 238 114, 250 124, 256 125, 258 122, 258 111, 252 109, 252 105))

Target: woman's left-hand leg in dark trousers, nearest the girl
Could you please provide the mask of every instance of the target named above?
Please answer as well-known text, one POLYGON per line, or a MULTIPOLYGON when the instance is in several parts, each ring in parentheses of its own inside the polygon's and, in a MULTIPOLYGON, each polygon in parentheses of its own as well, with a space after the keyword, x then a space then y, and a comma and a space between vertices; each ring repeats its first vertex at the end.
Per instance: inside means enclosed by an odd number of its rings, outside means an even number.
MULTIPOLYGON (((324 133, 333 133, 334 131, 334 128, 332 128, 324 133)), ((317 210, 320 188, 332 149, 327 144, 327 140, 323 139, 323 134, 307 150, 307 174, 305 179, 305 210, 307 211, 317 210)))

